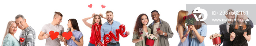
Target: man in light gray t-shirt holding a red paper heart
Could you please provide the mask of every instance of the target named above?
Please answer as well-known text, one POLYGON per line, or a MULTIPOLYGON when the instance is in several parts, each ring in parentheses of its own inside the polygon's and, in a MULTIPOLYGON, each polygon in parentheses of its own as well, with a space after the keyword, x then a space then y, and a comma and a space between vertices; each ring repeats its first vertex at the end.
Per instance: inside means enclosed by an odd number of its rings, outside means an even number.
MULTIPOLYGON (((62 39, 62 33, 64 32, 64 27, 60 25, 60 22, 62 20, 62 14, 60 12, 55 12, 54 18, 52 23, 45 24, 42 27, 42 30, 40 34, 38 35, 39 40, 44 40, 46 39, 45 46, 60 46, 60 41, 62 39), (59 32, 59 35, 57 36, 58 38, 56 39, 51 39, 49 32, 54 31, 54 32, 59 32)), ((61 41, 63 42, 63 41, 61 41)))

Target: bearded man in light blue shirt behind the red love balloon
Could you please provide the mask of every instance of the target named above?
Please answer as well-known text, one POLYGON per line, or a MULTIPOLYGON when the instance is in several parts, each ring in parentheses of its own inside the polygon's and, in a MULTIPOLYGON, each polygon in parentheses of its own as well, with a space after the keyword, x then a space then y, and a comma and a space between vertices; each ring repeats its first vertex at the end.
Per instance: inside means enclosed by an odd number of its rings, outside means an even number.
MULTIPOLYGON (((112 11, 106 12, 106 18, 107 18, 108 22, 105 22, 101 26, 101 42, 103 42, 104 35, 109 34, 110 31, 112 31, 113 34, 116 36, 116 29, 118 29, 119 26, 121 25, 119 22, 113 20, 113 12, 112 11)), ((125 34, 125 32, 123 34, 125 34)), ((130 32, 127 31, 126 34, 129 35, 130 32)), ((109 38, 107 38, 107 39, 109 39, 109 38)), ((115 41, 112 38, 112 41, 110 41, 107 46, 120 46, 120 44, 119 44, 119 41, 115 41)))

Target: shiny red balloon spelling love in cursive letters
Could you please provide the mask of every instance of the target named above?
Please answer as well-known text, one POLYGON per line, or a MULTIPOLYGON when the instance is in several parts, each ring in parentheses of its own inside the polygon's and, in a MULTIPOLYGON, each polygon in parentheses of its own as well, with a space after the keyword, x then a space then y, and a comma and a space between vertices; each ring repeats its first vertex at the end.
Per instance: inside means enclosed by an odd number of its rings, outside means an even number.
MULTIPOLYGON (((115 41, 119 41, 119 34, 122 36, 122 37, 127 37, 128 35, 126 34, 123 34, 125 32, 125 26, 124 24, 121 24, 119 26, 119 29, 116 29, 116 36, 113 34, 112 31, 109 32, 109 34, 106 34, 104 35, 103 37, 103 41, 104 41, 104 44, 100 41, 101 39, 101 34, 100 34, 100 29, 99 30, 96 30, 96 28, 99 29, 99 24, 98 23, 95 23, 94 24, 94 35, 95 35, 95 38, 96 38, 96 41, 95 41, 95 44, 98 44, 100 43, 102 46, 107 46, 107 43, 109 43, 110 41, 112 41, 112 38, 115 40, 115 41), (122 30, 123 28, 123 30, 122 30), (109 38, 109 39, 106 39, 106 38, 109 38)), ((96 45, 97 46, 97 45, 96 45)))

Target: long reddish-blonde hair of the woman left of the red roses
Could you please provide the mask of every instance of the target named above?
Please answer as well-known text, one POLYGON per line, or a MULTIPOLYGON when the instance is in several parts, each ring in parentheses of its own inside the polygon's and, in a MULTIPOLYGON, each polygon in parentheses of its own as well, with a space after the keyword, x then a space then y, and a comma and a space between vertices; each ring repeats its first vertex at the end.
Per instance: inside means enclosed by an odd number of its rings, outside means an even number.
MULTIPOLYGON (((182 26, 185 26, 185 20, 183 20, 183 17, 187 16, 187 15, 188 15, 188 11, 181 10, 178 12, 176 31, 178 30, 177 28, 178 28, 179 24, 182 26)), ((187 28, 185 28, 185 29, 187 29, 187 28)))

